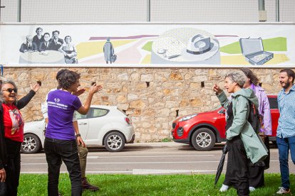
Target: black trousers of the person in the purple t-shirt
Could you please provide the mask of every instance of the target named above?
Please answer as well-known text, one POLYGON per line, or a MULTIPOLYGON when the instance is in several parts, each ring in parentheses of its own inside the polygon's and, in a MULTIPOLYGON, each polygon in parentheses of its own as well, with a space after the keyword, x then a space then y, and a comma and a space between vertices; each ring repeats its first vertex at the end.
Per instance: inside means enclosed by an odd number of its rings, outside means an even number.
POLYGON ((66 164, 71 179, 71 195, 82 195, 81 168, 76 140, 45 138, 44 151, 48 164, 48 195, 58 195, 61 160, 66 164))

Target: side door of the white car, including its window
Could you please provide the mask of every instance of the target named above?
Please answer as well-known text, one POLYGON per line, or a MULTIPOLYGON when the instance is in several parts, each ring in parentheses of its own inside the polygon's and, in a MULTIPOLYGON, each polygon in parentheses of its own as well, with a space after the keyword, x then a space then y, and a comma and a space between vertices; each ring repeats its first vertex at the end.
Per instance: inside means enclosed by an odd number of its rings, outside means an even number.
POLYGON ((90 113, 88 115, 88 134, 86 137, 86 143, 88 144, 100 144, 103 141, 103 135, 99 134, 100 131, 103 131, 102 128, 110 125, 110 121, 108 121, 108 109, 95 108, 92 107, 90 109, 90 113), (101 138, 100 138, 100 137, 101 138))

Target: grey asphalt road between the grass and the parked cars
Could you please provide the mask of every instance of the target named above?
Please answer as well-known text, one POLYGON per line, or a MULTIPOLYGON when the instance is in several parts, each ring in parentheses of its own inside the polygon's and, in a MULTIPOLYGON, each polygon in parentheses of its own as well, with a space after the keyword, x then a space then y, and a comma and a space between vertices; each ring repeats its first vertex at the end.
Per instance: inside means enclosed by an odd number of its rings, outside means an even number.
MULTIPOLYGON (((120 153, 109 153, 104 148, 90 148, 89 151, 86 173, 216 173, 222 146, 217 146, 212 151, 195 151, 187 146, 126 148, 120 153)), ((291 158, 289 168, 290 173, 295 173, 291 158)), ((223 171, 225 169, 226 163, 223 171)), ((64 164, 61 172, 66 172, 64 164)), ((21 154, 21 173, 47 173, 45 154, 21 154)), ((266 173, 279 173, 277 148, 271 148, 271 163, 266 173)))

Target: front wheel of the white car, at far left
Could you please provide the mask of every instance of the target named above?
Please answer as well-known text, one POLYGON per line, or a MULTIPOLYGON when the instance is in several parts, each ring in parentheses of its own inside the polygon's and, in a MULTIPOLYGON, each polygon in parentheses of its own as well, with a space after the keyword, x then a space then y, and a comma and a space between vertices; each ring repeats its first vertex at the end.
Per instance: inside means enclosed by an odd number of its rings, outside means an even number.
POLYGON ((21 143, 21 152, 25 154, 37 153, 41 148, 41 142, 38 136, 34 134, 24 135, 24 141, 21 143))

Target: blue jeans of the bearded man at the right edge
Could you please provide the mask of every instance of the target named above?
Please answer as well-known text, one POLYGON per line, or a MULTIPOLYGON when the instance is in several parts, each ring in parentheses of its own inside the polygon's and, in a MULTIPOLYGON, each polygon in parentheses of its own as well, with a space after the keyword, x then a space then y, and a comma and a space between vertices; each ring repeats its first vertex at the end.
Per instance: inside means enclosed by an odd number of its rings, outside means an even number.
POLYGON ((295 164, 295 136, 291 136, 289 138, 276 137, 276 143, 279 148, 279 168, 281 170, 281 187, 289 189, 289 150, 291 153, 292 161, 295 164))

